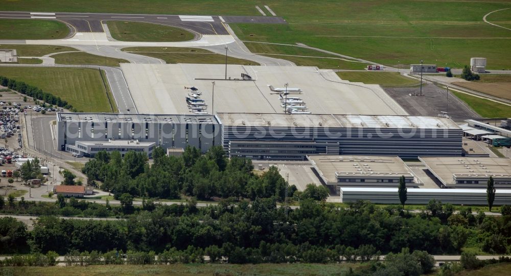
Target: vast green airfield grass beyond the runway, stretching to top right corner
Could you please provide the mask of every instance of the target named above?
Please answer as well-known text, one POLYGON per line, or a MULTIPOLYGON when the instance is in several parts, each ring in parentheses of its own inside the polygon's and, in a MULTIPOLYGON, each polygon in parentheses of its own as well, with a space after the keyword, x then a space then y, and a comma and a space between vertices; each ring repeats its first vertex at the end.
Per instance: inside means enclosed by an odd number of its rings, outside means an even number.
MULTIPOLYGON (((260 15, 268 5, 289 24, 230 24, 242 40, 304 43, 388 66, 436 63, 461 68, 470 58, 487 58, 487 68, 511 68, 511 32, 484 23, 482 17, 511 7, 509 1, 407 0, 126 0, 63 3, 57 0, 8 1, 3 10, 153 14, 260 15), (236 9, 233 9, 236 6, 236 9)), ((487 19, 511 26, 511 10, 487 19)), ((285 54, 280 49, 273 53, 285 54)), ((306 61, 307 63, 307 61, 306 61)))

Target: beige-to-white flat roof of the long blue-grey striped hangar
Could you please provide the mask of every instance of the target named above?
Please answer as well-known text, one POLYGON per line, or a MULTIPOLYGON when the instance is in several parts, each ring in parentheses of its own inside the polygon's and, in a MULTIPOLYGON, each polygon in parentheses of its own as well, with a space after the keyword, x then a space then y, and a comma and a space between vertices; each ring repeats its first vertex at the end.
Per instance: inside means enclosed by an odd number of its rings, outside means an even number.
POLYGON ((224 126, 459 129, 449 118, 400 115, 217 113, 224 126))

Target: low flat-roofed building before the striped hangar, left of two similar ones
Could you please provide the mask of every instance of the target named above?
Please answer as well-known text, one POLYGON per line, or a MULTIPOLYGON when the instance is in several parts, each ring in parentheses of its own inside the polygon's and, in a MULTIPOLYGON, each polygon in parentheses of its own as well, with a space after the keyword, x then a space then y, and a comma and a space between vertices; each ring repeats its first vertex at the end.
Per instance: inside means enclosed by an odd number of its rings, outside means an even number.
POLYGON ((307 157, 317 175, 339 194, 340 187, 398 187, 404 176, 409 187, 418 180, 401 160, 393 156, 324 156, 307 157))

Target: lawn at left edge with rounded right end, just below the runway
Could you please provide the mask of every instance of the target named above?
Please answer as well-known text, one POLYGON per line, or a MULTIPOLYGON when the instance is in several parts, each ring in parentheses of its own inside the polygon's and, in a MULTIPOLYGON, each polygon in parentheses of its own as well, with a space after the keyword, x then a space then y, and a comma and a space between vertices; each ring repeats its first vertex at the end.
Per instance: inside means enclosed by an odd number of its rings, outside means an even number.
MULTIPOLYGON (((2 10, 5 10, 3 4, 2 10)), ((59 39, 68 34, 66 24, 55 20, 0 19, 2 39, 59 39)))

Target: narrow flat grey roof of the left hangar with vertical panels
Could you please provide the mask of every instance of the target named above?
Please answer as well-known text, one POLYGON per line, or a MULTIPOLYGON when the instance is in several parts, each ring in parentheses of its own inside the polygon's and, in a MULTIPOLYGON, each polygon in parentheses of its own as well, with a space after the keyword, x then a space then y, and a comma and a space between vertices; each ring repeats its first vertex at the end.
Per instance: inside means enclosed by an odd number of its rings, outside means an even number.
POLYGON ((65 122, 159 122, 159 123, 218 123, 213 115, 199 114, 117 114, 57 112, 57 121, 65 122))

